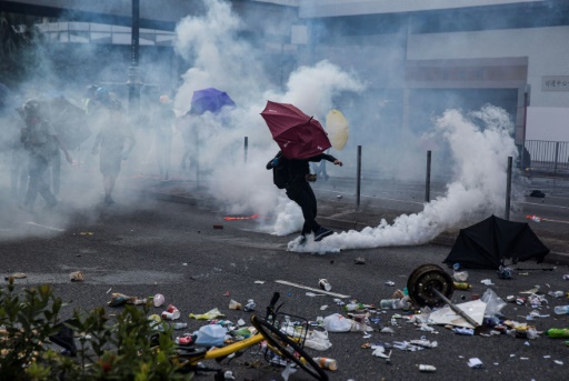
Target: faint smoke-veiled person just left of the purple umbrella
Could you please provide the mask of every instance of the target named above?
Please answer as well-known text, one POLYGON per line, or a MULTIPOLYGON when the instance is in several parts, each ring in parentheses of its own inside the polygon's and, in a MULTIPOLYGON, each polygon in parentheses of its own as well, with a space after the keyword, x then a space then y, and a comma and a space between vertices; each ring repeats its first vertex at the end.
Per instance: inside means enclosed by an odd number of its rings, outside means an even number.
POLYGON ((163 177, 164 180, 168 180, 170 151, 172 149, 172 124, 176 120, 171 103, 170 97, 160 96, 158 110, 154 114, 154 151, 160 177, 163 177))

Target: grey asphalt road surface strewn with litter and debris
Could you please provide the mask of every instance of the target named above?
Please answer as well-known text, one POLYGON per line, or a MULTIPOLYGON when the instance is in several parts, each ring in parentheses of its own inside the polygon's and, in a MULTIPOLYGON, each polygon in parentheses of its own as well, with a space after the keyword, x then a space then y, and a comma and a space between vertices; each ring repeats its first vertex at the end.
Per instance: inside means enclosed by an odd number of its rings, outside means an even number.
MULTIPOLYGON (((327 278, 332 291, 377 305, 381 299, 390 298, 397 288, 405 288, 413 269, 425 263, 440 263, 449 249, 425 244, 347 250, 325 255, 293 253, 286 251, 286 247, 295 235, 267 234, 260 230, 257 220, 224 221, 224 213, 216 209, 151 198, 112 208, 97 205, 94 211, 63 205, 59 213, 68 214, 64 223, 41 213, 22 214, 7 204, 2 204, 2 211, 13 217, 10 223, 0 227, 3 273, 27 273, 27 279, 18 280, 22 287, 52 283, 57 293, 71 302, 64 314, 70 314, 73 308, 90 310, 106 304, 110 300, 109 290, 138 297, 160 292, 168 303, 174 303, 182 311, 181 320, 190 324, 190 330, 202 324, 190 320, 190 312, 203 313, 219 308, 231 321, 247 320, 249 313, 227 308, 229 300, 243 303, 254 299, 262 307, 274 291, 281 292, 288 311, 311 320, 342 312, 331 297, 310 298, 306 290, 279 284, 276 280, 317 287, 319 279, 327 278), (213 229, 214 224, 222 224, 223 229, 213 229), (21 238, 23 232, 27 238, 21 238), (355 263, 360 257, 366 264, 355 263), (68 274, 74 270, 84 271, 84 282, 69 282, 68 274), (259 280, 264 283, 256 283, 259 280), (386 285, 387 281, 393 281, 395 285, 386 285), (328 308, 322 310, 323 305, 328 308)), ((452 300, 461 302, 462 297, 469 300, 472 293, 482 294, 488 289, 480 283, 483 279, 491 279, 496 284, 490 288, 502 298, 520 295, 521 291, 536 284, 545 292, 568 291, 569 283, 561 278, 569 273, 566 265, 557 265, 551 271, 543 270, 551 269, 551 263, 525 267, 535 270, 517 270, 511 280, 500 280, 493 271, 469 270, 472 291, 457 291, 452 300)), ((552 315, 552 307, 568 303, 568 300, 547 299, 549 304, 537 311, 549 317, 531 323, 540 331, 569 327, 569 315, 552 315)), ((108 310, 110 314, 116 311, 108 310)), ((532 310, 526 305, 507 304, 502 312, 526 322, 532 310)), ((156 312, 160 311, 157 309, 156 312)), ((392 311, 375 314, 380 318, 380 324, 373 327, 389 325, 391 315, 392 311)), ((337 359, 339 369, 330 372, 332 380, 409 380, 419 377, 456 380, 457 374, 466 380, 565 380, 569 365, 562 340, 465 337, 442 327, 437 327, 438 334, 431 334, 416 330, 405 320, 398 320, 393 330, 392 334, 376 331, 371 338, 363 338, 358 332, 330 333, 332 348, 311 353, 337 359), (422 335, 437 341, 438 348, 418 352, 393 350, 391 364, 361 348, 365 343, 393 343, 422 335), (470 369, 467 365, 470 358, 479 358, 483 368, 470 369), (563 364, 557 364, 556 360, 563 364), (420 373, 418 364, 435 365, 437 372, 420 373)), ((280 379, 280 370, 266 364, 248 368, 248 363, 257 360, 262 359, 249 352, 222 367, 232 370, 238 380, 280 379)), ((290 380, 302 379, 306 379, 303 374, 297 372, 290 380)))

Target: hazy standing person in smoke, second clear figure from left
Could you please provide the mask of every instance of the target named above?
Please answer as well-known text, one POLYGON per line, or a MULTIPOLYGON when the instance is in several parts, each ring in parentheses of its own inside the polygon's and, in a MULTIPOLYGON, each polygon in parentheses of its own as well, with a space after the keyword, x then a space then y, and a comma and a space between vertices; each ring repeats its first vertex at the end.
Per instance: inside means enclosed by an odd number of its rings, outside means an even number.
POLYGON ((100 124, 100 131, 94 138, 92 154, 99 153, 100 171, 104 189, 104 203, 113 204, 112 191, 120 173, 121 161, 127 160, 134 147, 134 134, 122 118, 121 103, 111 99, 107 104, 107 121, 100 124), (127 144, 128 141, 128 144, 127 144), (124 146, 128 146, 127 148, 124 146))

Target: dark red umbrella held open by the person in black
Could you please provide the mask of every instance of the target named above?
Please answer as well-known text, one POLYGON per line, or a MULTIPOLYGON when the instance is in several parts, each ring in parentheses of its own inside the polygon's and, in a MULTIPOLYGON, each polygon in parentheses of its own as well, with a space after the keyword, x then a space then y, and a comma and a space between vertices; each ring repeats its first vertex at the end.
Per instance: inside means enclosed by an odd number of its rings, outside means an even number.
POLYGON ((292 104, 268 101, 261 116, 288 159, 308 159, 332 147, 320 122, 292 104))

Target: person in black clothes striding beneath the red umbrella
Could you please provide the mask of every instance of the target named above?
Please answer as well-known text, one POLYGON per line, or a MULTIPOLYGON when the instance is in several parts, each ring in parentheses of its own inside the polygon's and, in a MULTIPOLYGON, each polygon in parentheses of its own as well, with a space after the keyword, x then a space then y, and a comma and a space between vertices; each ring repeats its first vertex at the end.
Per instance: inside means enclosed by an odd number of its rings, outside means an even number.
POLYGON ((333 162, 336 166, 343 166, 340 160, 328 153, 320 153, 305 160, 291 160, 284 158, 282 151, 279 151, 277 156, 267 163, 268 170, 280 167, 284 169, 287 173, 288 180, 284 187, 287 197, 300 207, 302 217, 305 218, 300 235, 301 244, 306 243, 307 234, 309 233, 315 234, 315 241, 317 242, 333 233, 331 229, 321 227, 316 221, 318 208, 315 192, 310 187, 310 182, 316 181, 316 176, 310 174, 309 163, 320 162, 322 160, 333 162))

